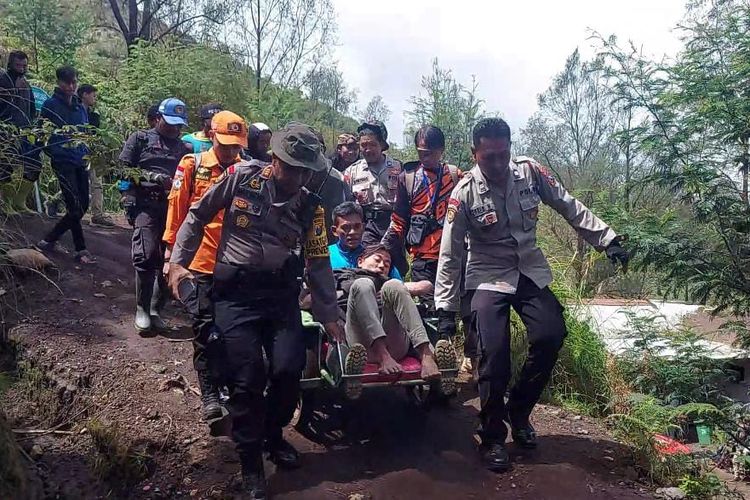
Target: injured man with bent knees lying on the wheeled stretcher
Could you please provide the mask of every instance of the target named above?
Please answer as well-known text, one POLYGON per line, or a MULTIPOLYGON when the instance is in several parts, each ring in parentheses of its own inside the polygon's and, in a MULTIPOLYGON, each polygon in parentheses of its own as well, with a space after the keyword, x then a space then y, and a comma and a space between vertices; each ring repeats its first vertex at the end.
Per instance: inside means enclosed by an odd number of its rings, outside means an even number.
MULTIPOLYGON (((398 362, 415 352, 422 364, 421 377, 438 378, 436 358, 455 359, 452 347, 443 340, 433 350, 409 290, 402 281, 390 278, 390 271, 390 253, 384 245, 365 248, 357 268, 334 270, 339 305, 346 315, 347 343, 350 348, 361 344, 367 350, 367 359, 356 363, 360 366, 351 366, 352 359, 347 365, 356 373, 365 362, 376 363, 381 373, 398 374, 403 371, 398 362)), ((357 349, 352 349, 350 355, 355 352, 357 349)))

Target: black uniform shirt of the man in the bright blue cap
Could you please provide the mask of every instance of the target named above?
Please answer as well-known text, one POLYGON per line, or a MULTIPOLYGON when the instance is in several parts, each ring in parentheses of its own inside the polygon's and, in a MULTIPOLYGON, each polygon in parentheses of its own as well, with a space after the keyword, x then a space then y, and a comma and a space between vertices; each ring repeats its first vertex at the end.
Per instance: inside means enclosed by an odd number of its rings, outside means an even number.
POLYGON ((190 147, 179 137, 164 137, 152 128, 130 134, 119 159, 130 167, 174 177, 177 164, 190 153, 190 147))

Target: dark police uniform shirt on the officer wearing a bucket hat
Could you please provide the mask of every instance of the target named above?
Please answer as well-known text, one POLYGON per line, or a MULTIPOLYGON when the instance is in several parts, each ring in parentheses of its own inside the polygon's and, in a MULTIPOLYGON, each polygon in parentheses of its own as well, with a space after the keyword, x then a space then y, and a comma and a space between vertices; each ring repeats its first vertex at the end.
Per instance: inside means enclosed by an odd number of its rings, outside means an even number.
POLYGON ((251 272, 277 271, 304 245, 313 312, 318 321, 338 318, 336 291, 328 255, 325 213, 318 206, 310 227, 300 222, 309 191, 302 188, 277 202, 271 166, 240 162, 229 167, 194 203, 177 232, 171 262, 188 267, 203 238, 203 228, 224 210, 216 261, 251 272))

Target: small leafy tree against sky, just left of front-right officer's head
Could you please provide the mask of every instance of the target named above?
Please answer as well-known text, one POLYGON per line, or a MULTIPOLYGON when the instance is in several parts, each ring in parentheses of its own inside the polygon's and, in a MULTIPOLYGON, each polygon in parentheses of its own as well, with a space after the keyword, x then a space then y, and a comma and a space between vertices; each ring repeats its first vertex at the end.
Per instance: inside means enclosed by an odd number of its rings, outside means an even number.
POLYGON ((406 112, 405 141, 422 125, 440 127, 445 135, 445 159, 467 168, 471 163, 471 141, 474 125, 484 117, 484 101, 477 96, 478 85, 474 78, 465 87, 456 81, 451 70, 443 69, 438 60, 432 62, 432 73, 422 77, 422 93, 409 100, 411 109, 406 112))

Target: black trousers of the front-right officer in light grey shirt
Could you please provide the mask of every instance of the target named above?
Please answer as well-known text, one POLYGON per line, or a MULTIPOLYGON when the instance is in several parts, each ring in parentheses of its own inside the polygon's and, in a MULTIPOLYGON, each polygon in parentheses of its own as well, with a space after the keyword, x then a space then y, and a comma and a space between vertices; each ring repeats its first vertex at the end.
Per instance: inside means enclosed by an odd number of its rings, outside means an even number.
POLYGON ((549 381, 565 339, 563 307, 552 291, 521 275, 516 294, 476 290, 471 301, 479 337, 480 435, 485 443, 504 442, 505 420, 523 424, 549 381), (511 378, 510 308, 526 325, 529 351, 505 405, 511 378))

